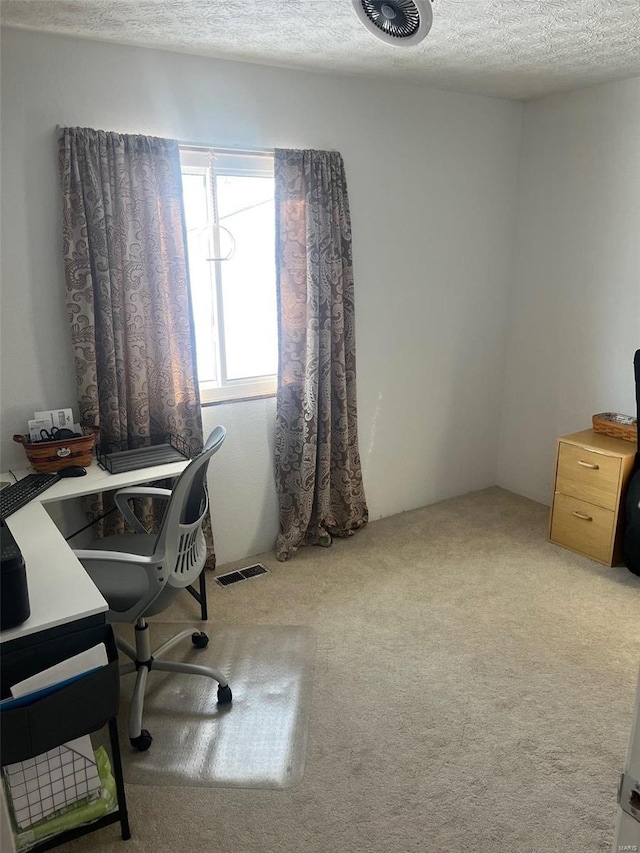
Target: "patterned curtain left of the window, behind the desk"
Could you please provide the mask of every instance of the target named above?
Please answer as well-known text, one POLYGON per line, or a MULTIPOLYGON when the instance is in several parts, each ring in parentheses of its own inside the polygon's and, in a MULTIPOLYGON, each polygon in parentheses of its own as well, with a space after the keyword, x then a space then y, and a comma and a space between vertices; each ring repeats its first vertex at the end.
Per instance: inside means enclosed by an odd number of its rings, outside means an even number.
MULTIPOLYGON (((115 448, 174 433, 197 453, 202 419, 178 143, 66 127, 59 169, 80 418, 115 448)), ((149 514, 143 520, 153 523, 149 514)))

